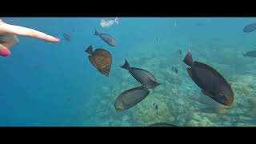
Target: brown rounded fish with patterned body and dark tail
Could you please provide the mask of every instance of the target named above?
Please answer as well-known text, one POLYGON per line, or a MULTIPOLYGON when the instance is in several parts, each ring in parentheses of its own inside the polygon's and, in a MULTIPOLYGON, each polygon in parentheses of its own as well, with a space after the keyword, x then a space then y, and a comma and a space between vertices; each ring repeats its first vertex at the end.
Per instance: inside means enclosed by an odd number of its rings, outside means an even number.
POLYGON ((90 45, 85 50, 86 53, 90 54, 88 56, 90 63, 106 77, 110 74, 110 69, 112 65, 112 56, 109 51, 98 48, 93 51, 93 47, 90 45))

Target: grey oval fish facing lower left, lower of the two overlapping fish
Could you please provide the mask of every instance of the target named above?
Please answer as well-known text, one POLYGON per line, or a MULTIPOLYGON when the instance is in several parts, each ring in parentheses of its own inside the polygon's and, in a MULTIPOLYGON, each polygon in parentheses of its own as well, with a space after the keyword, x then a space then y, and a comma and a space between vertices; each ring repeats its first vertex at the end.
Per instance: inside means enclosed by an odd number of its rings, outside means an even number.
POLYGON ((148 94, 150 94, 150 90, 147 90, 144 86, 126 90, 118 96, 114 102, 114 108, 117 111, 128 110, 137 105, 138 102, 142 102, 148 94))

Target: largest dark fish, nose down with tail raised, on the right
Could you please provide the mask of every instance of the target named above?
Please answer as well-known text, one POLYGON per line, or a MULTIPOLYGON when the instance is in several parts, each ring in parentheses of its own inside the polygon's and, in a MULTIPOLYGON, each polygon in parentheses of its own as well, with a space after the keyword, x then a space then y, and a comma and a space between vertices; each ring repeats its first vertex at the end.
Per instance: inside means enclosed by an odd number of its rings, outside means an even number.
POLYGON ((214 101, 225 106, 231 106, 234 102, 234 93, 226 79, 214 68, 202 63, 193 62, 192 54, 189 51, 183 62, 190 66, 187 72, 190 78, 202 89, 204 94, 214 101))

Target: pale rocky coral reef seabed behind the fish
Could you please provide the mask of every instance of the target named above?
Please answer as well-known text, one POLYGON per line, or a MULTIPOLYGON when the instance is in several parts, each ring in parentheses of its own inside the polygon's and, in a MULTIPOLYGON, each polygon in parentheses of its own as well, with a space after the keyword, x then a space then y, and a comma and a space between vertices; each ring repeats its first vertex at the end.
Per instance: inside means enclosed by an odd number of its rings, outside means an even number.
MULTIPOLYGON (((163 42, 162 45, 145 46, 141 42, 141 45, 134 48, 137 49, 138 57, 131 50, 127 52, 126 59, 131 66, 149 70, 162 85, 150 90, 150 94, 138 105, 117 112, 114 102, 118 95, 124 90, 139 86, 139 83, 126 70, 115 65, 108 80, 101 82, 101 77, 96 79, 101 84, 96 86, 98 89, 94 90, 92 98, 82 110, 82 114, 86 113, 85 126, 89 122, 94 122, 94 126, 149 126, 154 122, 169 122, 176 126, 256 126, 256 77, 250 74, 254 71, 248 74, 245 71, 245 67, 250 67, 251 60, 243 58, 241 51, 235 51, 234 46, 219 46, 215 41, 212 40, 205 46, 191 46, 194 47, 193 57, 214 66, 231 83, 235 101, 230 113, 207 114, 194 111, 206 106, 190 98, 207 96, 201 93, 186 73, 186 65, 182 63, 186 49, 183 49, 182 56, 175 49, 175 46, 182 47, 181 44, 168 46, 167 42, 163 42), (150 50, 147 51, 146 48, 150 50), (178 65, 178 74, 171 70, 173 65, 178 65), (158 110, 154 109, 154 102, 158 104, 158 110)), ((122 65, 122 62, 118 65, 122 65)), ((209 98, 208 101, 213 100, 209 98)))

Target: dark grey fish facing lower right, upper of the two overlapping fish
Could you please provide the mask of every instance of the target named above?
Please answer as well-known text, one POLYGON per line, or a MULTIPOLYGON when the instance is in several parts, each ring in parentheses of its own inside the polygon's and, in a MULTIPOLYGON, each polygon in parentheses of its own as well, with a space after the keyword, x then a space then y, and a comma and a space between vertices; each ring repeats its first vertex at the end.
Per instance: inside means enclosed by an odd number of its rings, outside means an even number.
POLYGON ((125 59, 125 63, 120 66, 125 70, 128 70, 129 73, 142 84, 142 86, 147 86, 149 89, 154 89, 156 86, 159 86, 161 83, 158 83, 153 74, 147 70, 131 67, 129 62, 125 59))

